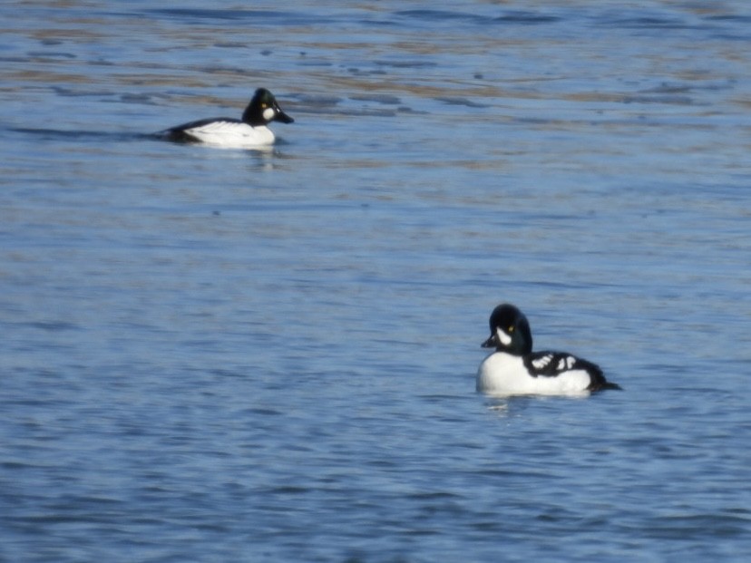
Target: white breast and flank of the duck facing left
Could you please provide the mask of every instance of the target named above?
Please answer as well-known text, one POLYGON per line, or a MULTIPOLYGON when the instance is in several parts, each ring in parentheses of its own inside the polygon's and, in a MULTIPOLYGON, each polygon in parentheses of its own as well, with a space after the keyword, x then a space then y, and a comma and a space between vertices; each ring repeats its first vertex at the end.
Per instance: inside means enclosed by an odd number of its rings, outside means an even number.
POLYGON ((477 371, 477 391, 493 395, 582 395, 589 394, 590 374, 571 370, 555 377, 532 377, 522 358, 495 352, 477 371))

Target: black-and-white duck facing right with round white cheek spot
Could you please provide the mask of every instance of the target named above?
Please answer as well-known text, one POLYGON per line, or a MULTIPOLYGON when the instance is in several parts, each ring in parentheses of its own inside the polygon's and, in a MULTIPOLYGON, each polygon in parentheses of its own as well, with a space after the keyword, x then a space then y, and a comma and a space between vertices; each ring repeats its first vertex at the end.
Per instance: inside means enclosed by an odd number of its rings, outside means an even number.
POLYGON ((234 149, 263 148, 276 140, 274 132, 268 129, 271 121, 292 123, 295 120, 282 111, 274 94, 266 88, 258 88, 242 113, 242 119, 214 117, 190 121, 160 131, 157 135, 172 142, 203 143, 234 149))

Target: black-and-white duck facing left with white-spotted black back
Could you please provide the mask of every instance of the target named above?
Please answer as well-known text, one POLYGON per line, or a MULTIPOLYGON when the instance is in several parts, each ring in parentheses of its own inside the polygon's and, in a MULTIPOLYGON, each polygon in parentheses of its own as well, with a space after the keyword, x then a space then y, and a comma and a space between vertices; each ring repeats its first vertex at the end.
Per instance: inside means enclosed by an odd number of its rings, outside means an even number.
POLYGON ((605 379, 600 366, 566 352, 532 352, 532 329, 522 311, 503 303, 490 315, 495 348, 477 370, 476 389, 493 395, 589 395, 621 389, 605 379))

